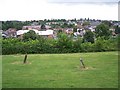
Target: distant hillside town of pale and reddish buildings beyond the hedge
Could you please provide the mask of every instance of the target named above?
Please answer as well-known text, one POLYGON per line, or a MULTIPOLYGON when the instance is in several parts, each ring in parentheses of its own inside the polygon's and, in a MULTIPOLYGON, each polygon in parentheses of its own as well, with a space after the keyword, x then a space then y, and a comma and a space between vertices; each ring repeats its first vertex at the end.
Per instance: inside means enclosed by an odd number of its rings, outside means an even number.
MULTIPOLYGON (((91 20, 91 19, 80 19, 80 20, 49 20, 44 21, 44 23, 40 24, 38 22, 32 22, 31 25, 25 25, 21 30, 17 30, 15 28, 9 28, 6 31, 1 30, 2 37, 22 37, 23 34, 29 32, 30 30, 35 31, 37 35, 45 36, 45 37, 57 37, 57 33, 62 31, 68 35, 72 34, 74 36, 83 37, 86 30, 90 30, 95 32, 95 28, 101 24, 101 20, 91 20), (44 25, 44 26, 43 26, 44 25), (43 29, 44 27, 44 29, 43 29), (76 28, 76 31, 74 30, 76 28)), ((113 26, 118 25, 120 27, 120 22, 110 21, 113 26)), ((115 35, 115 28, 110 28, 112 34, 115 35)))

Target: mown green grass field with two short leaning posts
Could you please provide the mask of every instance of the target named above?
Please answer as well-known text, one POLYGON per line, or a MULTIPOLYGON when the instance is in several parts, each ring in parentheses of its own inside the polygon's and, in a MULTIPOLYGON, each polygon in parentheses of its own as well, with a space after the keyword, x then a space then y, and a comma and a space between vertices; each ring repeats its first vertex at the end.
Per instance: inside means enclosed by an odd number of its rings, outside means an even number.
POLYGON ((117 88, 118 53, 3 55, 3 88, 117 88), (80 57, 86 68, 81 68, 80 57))

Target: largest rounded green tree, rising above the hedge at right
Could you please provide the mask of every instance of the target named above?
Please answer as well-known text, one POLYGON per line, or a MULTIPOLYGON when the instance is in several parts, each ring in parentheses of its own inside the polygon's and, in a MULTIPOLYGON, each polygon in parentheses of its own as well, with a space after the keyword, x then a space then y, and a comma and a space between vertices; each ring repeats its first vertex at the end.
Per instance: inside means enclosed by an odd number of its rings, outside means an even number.
POLYGON ((101 23, 95 29, 96 37, 105 37, 108 38, 111 35, 111 31, 109 30, 109 26, 101 23))

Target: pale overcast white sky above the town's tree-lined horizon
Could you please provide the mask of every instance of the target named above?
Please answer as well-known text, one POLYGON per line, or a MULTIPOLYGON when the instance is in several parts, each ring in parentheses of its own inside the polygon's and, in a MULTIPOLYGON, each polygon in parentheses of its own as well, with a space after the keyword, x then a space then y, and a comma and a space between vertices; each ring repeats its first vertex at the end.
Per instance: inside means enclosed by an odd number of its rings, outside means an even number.
POLYGON ((0 0, 0 20, 118 20, 118 0, 0 0))

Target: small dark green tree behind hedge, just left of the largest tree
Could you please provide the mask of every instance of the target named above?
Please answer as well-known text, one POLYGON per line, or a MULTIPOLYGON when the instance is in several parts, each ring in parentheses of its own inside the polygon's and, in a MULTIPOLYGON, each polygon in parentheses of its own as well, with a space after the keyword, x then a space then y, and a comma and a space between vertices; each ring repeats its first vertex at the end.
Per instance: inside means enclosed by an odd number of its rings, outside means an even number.
POLYGON ((84 35, 84 42, 91 42, 94 43, 94 33, 90 30, 86 31, 84 35))

